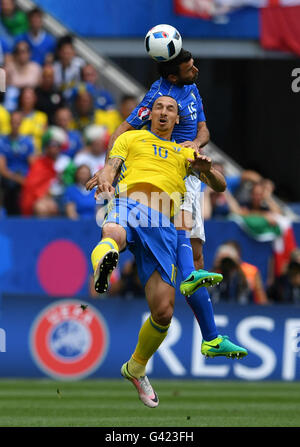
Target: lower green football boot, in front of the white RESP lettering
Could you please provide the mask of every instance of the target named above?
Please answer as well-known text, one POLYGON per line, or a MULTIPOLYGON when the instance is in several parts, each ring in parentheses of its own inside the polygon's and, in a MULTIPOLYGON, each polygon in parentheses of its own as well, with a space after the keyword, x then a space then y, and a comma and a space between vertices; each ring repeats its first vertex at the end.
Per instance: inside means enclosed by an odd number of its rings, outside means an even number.
POLYGON ((214 340, 202 341, 201 354, 205 355, 205 357, 218 357, 223 355, 227 358, 240 359, 248 355, 248 351, 232 343, 227 335, 218 335, 214 340))

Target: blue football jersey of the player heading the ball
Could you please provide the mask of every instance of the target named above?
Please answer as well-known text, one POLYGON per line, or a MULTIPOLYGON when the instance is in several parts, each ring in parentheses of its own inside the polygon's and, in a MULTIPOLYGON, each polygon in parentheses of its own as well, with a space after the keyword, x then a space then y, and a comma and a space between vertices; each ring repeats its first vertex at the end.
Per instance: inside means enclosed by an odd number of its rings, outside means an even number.
POLYGON ((158 79, 126 121, 135 129, 143 127, 149 122, 154 101, 162 95, 172 96, 179 107, 180 122, 175 124, 172 139, 177 143, 194 140, 197 136, 198 123, 206 121, 202 99, 195 84, 179 87, 164 78, 158 79))

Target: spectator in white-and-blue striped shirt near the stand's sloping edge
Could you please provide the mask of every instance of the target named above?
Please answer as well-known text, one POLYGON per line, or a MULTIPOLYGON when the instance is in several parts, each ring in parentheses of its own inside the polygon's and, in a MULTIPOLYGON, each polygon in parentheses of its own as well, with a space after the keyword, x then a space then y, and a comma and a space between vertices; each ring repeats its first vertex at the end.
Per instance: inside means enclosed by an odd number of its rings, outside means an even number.
POLYGON ((81 81, 81 68, 84 60, 76 56, 71 36, 62 37, 57 43, 57 61, 54 63, 54 82, 66 95, 81 81))

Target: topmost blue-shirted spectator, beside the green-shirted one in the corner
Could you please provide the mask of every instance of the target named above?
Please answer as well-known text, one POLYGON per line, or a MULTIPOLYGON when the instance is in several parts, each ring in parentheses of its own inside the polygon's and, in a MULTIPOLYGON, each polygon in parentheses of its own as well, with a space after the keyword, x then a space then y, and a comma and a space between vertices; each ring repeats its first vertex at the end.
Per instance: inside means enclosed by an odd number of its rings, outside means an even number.
POLYGON ((43 12, 33 8, 28 13, 29 30, 17 37, 16 42, 23 40, 28 43, 31 60, 44 65, 52 63, 56 48, 56 40, 43 29, 43 12))

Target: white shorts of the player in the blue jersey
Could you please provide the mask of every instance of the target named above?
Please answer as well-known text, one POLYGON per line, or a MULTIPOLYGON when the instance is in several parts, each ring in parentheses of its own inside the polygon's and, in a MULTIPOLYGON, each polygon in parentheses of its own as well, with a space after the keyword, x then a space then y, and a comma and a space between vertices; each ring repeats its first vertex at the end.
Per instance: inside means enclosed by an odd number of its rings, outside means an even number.
POLYGON ((204 224, 202 219, 203 193, 201 193, 201 181, 194 175, 185 179, 186 194, 181 210, 189 211, 192 214, 193 227, 191 238, 201 239, 205 242, 204 224))

